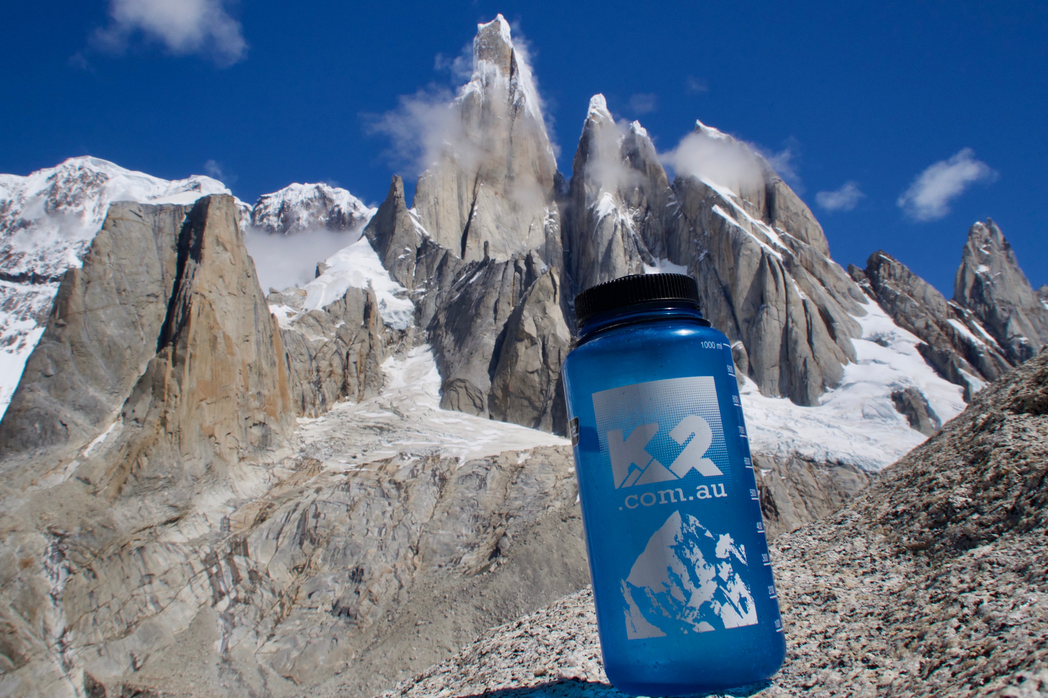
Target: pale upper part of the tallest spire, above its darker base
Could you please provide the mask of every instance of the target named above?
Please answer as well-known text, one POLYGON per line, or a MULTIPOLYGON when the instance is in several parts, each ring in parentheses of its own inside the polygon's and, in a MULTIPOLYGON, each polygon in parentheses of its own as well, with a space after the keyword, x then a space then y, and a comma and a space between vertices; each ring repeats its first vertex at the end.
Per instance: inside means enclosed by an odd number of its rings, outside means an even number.
POLYGON ((433 241, 465 261, 560 255, 556 162, 530 67, 499 15, 473 43, 473 77, 450 106, 450 145, 419 177, 415 209, 433 241))

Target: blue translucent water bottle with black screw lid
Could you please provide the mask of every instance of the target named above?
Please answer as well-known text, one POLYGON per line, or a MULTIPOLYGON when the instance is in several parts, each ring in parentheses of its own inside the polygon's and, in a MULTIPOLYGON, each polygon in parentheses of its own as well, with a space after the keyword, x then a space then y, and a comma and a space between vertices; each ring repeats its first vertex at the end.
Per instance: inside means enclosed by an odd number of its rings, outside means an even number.
POLYGON ((605 671, 680 696, 770 677, 786 654, 727 338, 683 274, 575 298, 564 387, 605 671))

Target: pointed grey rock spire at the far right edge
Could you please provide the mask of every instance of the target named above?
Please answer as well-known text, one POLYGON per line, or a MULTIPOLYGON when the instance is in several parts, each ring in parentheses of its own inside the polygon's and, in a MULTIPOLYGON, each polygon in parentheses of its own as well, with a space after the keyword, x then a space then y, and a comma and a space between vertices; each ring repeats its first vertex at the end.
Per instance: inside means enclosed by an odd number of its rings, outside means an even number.
POLYGON ((1048 308, 989 219, 968 230, 954 277, 954 300, 979 318, 1012 363, 1026 361, 1048 344, 1048 308))

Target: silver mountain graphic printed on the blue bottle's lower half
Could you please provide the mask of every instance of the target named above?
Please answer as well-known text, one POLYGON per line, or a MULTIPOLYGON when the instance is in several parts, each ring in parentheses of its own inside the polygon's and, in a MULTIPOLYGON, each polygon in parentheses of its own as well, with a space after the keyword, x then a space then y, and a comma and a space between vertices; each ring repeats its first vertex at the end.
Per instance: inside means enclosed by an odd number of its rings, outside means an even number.
POLYGON ((752 592, 736 570, 746 550, 674 512, 652 534, 621 580, 630 639, 709 632, 757 624, 752 592))

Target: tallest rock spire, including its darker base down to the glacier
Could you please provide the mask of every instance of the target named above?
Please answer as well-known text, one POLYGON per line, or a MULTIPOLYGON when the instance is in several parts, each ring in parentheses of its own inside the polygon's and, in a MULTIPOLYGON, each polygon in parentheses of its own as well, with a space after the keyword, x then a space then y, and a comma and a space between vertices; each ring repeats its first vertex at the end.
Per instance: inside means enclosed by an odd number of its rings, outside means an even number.
POLYGON ((566 429, 556 166, 530 68, 500 15, 478 27, 474 72, 449 106, 449 148, 418 179, 394 177, 364 234, 413 290, 434 348, 441 406, 566 429))

